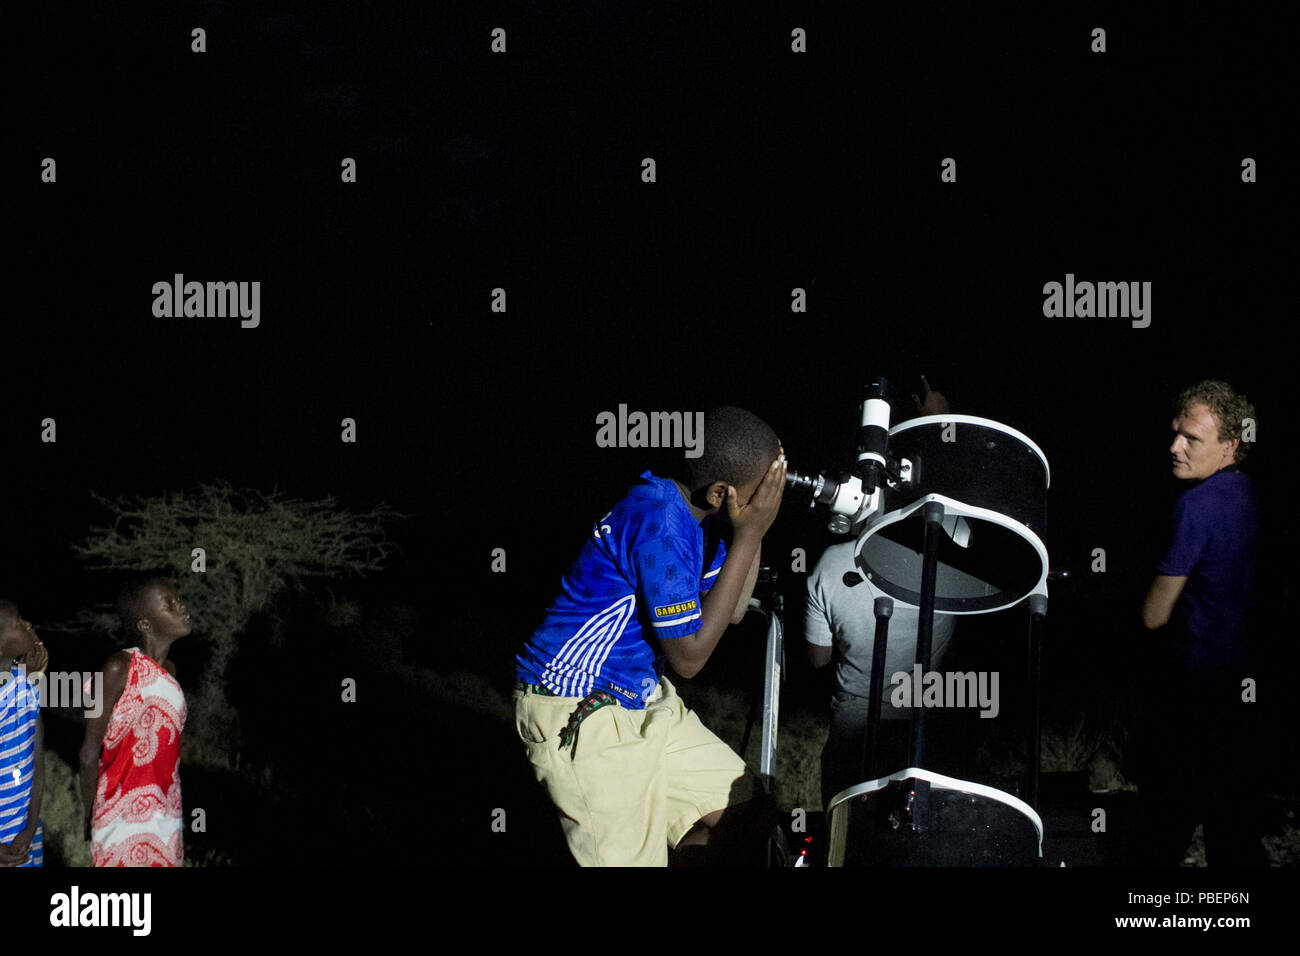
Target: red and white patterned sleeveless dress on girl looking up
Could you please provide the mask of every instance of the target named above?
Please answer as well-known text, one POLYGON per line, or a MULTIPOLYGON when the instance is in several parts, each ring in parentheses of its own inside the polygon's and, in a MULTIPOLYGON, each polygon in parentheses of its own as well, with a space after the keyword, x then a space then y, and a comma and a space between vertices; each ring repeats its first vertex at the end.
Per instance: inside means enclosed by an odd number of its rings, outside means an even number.
POLYGON ((91 852, 96 866, 181 866, 185 695, 148 654, 130 654, 99 757, 91 852))

